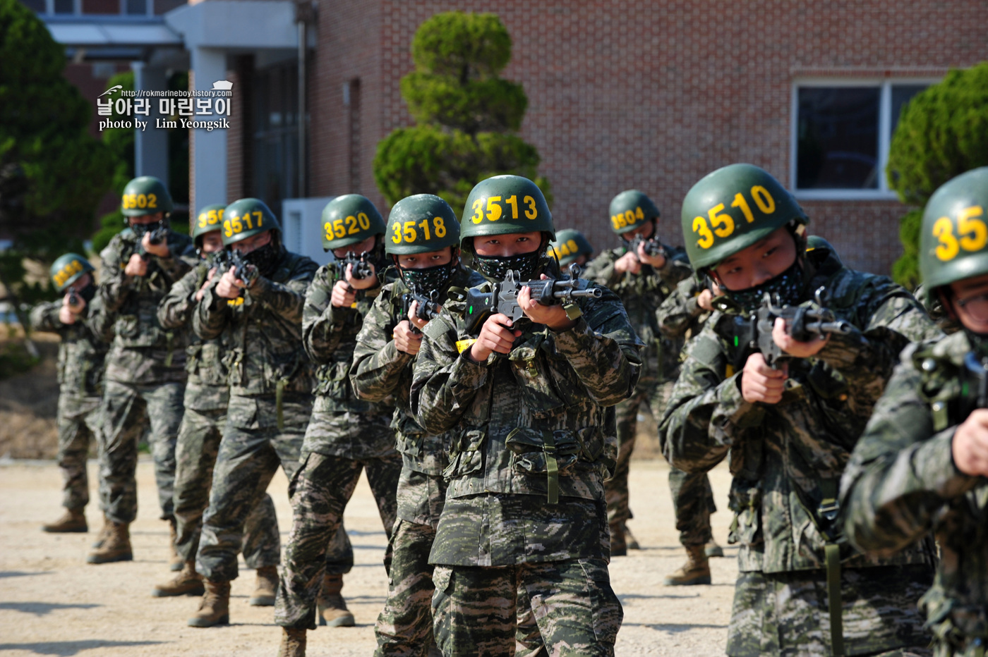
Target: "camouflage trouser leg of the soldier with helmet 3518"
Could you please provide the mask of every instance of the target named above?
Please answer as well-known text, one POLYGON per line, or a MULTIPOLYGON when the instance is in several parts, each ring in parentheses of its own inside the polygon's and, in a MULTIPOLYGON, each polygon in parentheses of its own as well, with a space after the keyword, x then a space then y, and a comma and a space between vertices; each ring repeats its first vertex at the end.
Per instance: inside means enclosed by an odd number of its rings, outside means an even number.
POLYGON ((387 600, 377 617, 375 657, 420 657, 433 641, 433 568, 429 552, 436 540, 439 516, 446 500, 442 475, 401 469, 398 480, 398 521, 391 532, 391 568, 387 600))

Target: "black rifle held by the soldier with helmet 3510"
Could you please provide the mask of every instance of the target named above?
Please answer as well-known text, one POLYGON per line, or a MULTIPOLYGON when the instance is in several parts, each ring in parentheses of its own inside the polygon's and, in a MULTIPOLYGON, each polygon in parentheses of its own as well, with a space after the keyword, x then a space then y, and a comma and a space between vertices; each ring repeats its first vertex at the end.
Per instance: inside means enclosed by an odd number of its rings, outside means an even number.
MULTIPOLYGON (((776 318, 785 320, 785 332, 800 342, 808 342, 814 337, 826 336, 830 333, 850 333, 854 327, 849 322, 838 320, 833 311, 824 308, 822 293, 821 287, 813 295, 816 308, 778 306, 775 304, 779 303, 779 299, 777 298, 774 304, 766 293, 762 306, 751 317, 738 320, 741 326, 738 327, 736 344, 748 345, 748 351, 739 353, 739 356, 743 355, 747 358, 748 353, 758 351, 765 356, 766 364, 773 369, 779 369, 779 363, 783 358, 793 357, 784 353, 772 337, 776 318)), ((741 362, 737 364, 743 366, 741 362)))

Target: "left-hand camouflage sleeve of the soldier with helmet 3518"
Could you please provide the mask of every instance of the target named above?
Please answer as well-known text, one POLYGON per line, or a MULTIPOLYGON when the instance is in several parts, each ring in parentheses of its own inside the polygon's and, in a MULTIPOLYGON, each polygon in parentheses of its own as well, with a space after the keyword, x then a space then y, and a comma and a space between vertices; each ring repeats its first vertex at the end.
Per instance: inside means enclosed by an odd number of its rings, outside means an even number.
POLYGON ((391 339, 396 323, 389 312, 390 299, 389 290, 377 295, 357 333, 350 383, 362 400, 381 401, 391 395, 413 358, 411 354, 398 351, 391 339))

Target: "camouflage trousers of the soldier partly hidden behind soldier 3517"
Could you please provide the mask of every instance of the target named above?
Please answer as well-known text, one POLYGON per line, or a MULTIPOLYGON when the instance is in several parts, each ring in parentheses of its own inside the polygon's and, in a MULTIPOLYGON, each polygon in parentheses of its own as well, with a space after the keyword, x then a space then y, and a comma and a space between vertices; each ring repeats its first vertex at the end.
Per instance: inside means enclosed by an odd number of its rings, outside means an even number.
MULTIPOLYGON (((175 448, 175 548, 185 561, 195 561, 203 531, 203 513, 209 503, 212 470, 216 465, 226 409, 186 408, 175 448)), ((244 521, 244 561, 249 568, 278 565, 282 539, 271 495, 264 493, 244 521)))

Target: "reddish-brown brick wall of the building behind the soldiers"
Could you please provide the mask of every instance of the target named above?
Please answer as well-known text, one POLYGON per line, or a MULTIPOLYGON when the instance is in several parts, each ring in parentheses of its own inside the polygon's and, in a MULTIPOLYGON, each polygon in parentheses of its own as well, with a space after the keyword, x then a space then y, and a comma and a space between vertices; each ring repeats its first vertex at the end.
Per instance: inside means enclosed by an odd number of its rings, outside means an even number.
MULTIPOLYGON (((706 173, 751 162, 789 183, 797 77, 940 75, 988 59, 988 5, 869 2, 323 2, 313 71, 313 194, 368 193, 373 145, 410 124, 399 80, 416 28, 436 12, 492 11, 514 56, 504 76, 529 95, 522 136, 552 183, 556 226, 615 244, 607 212, 628 187, 648 192, 680 235, 683 196, 706 173), (358 188, 349 183, 343 83, 362 87, 358 188)), ((900 253, 894 201, 805 201, 812 230, 853 266, 887 272, 900 253)), ((460 208, 456 208, 457 211, 460 208)), ((682 238, 672 239, 681 243, 682 238)))

